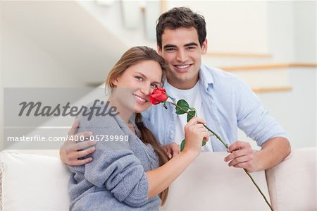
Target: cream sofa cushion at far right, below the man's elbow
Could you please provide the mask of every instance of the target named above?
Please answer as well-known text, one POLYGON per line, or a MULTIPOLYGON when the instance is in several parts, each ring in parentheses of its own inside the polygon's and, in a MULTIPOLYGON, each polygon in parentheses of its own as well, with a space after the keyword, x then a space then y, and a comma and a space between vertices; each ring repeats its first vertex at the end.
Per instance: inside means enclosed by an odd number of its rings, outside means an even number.
POLYGON ((316 148, 294 150, 266 176, 274 210, 317 210, 316 148))

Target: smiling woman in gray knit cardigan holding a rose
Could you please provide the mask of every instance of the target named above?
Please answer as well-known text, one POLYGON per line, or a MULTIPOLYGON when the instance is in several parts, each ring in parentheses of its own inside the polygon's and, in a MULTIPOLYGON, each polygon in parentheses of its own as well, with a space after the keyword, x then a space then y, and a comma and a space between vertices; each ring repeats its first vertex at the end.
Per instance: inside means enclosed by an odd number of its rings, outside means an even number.
POLYGON ((151 107, 149 95, 162 85, 165 71, 163 58, 153 49, 132 47, 108 73, 109 102, 118 115, 94 116, 90 121, 80 116, 78 132, 118 135, 127 141, 99 141, 92 162, 69 166, 70 210, 158 210, 170 183, 199 155, 201 140, 209 135, 201 124, 204 120, 193 118, 187 123, 186 146, 169 161, 142 124, 139 113, 151 107))

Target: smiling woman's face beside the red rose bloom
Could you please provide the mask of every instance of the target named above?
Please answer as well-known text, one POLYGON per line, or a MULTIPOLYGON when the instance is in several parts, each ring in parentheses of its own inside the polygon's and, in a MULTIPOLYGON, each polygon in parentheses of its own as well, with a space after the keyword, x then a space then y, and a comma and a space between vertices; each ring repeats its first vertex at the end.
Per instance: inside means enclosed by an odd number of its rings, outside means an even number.
POLYGON ((120 92, 118 101, 127 104, 136 113, 151 107, 149 95, 161 84, 162 69, 157 61, 144 60, 127 68, 118 78, 112 80, 120 92), (122 88, 122 89, 121 89, 122 88), (125 88, 125 89, 123 89, 125 88))

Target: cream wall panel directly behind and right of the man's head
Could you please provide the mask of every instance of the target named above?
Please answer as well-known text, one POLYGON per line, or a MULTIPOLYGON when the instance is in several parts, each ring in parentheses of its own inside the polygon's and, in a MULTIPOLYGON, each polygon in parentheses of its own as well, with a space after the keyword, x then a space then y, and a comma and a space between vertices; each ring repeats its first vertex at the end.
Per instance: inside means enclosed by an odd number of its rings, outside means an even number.
POLYGON ((168 1, 206 19, 209 51, 268 54, 267 1, 168 1))

